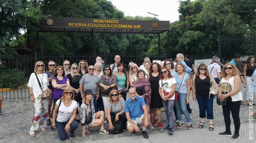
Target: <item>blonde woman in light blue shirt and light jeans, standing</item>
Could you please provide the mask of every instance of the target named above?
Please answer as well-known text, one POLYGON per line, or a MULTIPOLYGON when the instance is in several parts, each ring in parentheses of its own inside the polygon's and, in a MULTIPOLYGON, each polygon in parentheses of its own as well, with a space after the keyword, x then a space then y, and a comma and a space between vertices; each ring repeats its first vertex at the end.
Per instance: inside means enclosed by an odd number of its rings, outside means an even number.
POLYGON ((189 103, 189 94, 191 88, 191 79, 189 74, 185 73, 186 67, 178 62, 175 66, 175 73, 173 76, 177 82, 176 91, 178 92, 178 99, 174 101, 174 105, 177 111, 177 118, 179 120, 179 125, 177 128, 180 129, 183 127, 181 111, 184 113, 185 118, 188 123, 188 130, 193 130, 191 119, 187 110, 187 104, 189 103), (181 110, 180 110, 181 109, 181 110))

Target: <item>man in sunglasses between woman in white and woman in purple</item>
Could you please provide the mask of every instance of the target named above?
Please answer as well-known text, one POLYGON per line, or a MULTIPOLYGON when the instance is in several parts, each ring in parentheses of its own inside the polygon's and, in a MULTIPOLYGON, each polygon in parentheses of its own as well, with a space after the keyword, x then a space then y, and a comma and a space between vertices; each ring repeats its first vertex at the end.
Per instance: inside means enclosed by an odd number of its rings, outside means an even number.
MULTIPOLYGON (((52 87, 52 77, 54 74, 54 70, 55 70, 55 62, 54 61, 49 61, 48 62, 48 71, 44 72, 45 74, 47 74, 48 76, 48 82, 49 82, 49 86, 47 86, 49 89, 51 89, 53 91, 53 87, 52 87)), ((50 118, 50 114, 51 114, 51 107, 52 107, 52 99, 49 99, 49 103, 48 103, 48 115, 47 115, 47 125, 51 125, 51 118, 50 118)))

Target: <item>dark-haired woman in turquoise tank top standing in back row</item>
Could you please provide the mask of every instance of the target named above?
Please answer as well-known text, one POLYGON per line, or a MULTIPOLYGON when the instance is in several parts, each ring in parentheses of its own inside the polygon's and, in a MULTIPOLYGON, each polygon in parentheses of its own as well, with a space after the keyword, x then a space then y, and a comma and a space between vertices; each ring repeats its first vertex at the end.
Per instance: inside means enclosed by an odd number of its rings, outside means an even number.
POLYGON ((120 93, 122 97, 124 98, 124 101, 126 101, 126 94, 129 88, 129 77, 128 73, 125 72, 125 66, 124 63, 119 62, 117 64, 118 72, 115 73, 116 77, 116 87, 122 87, 123 89, 126 89, 126 91, 120 93))

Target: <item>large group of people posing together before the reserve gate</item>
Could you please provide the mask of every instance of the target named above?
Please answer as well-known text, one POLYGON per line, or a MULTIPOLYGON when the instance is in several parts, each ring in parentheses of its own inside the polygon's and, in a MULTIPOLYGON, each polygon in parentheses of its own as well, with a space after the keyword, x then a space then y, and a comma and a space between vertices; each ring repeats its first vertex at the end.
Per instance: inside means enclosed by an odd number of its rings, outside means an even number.
MULTIPOLYGON (((173 134, 174 116, 178 124, 176 128, 182 128, 184 126, 182 113, 185 115, 188 130, 192 130, 193 125, 189 115, 191 85, 192 99, 197 100, 199 105, 201 120, 198 128, 203 128, 207 118, 209 130, 212 131, 214 130, 214 95, 210 94, 210 87, 214 84, 219 91, 217 97, 221 101, 227 101, 222 105, 226 131, 220 135, 231 135, 231 111, 235 124, 235 134, 232 139, 239 138, 239 109, 243 100, 240 91, 242 73, 232 62, 225 64, 220 71, 219 66, 215 66, 218 65, 218 59, 215 58, 214 63, 208 68, 205 64, 200 64, 195 71, 189 56, 186 55, 185 58, 179 53, 175 58, 177 63, 167 59, 161 66, 157 62, 151 63, 146 57, 140 68, 137 64, 130 63, 129 72, 126 72, 125 64, 120 62, 121 57, 116 55, 114 60, 115 63, 110 66, 103 65, 104 61, 100 57, 97 57, 96 63, 90 66, 86 61, 81 60, 78 65, 73 63, 70 69, 68 60, 63 62, 63 66, 57 67, 54 61, 49 61, 47 72, 42 61, 36 62, 35 73, 30 75, 28 82, 31 102, 34 103, 36 110, 29 131, 30 136, 36 136, 36 130, 46 131, 46 125, 51 125, 51 130, 57 128, 61 140, 67 138, 67 132, 70 134, 70 139, 73 139, 80 122, 83 137, 90 133, 90 128, 97 126, 100 126, 100 134, 109 134, 115 130, 116 122, 120 121, 122 131, 128 130, 130 133, 135 133, 142 129, 143 137, 148 138, 146 129, 154 130, 154 126, 163 128, 164 131, 168 131, 168 134, 173 134), (217 71, 217 77, 211 74, 215 71, 217 71), (52 98, 44 99, 40 87, 43 91, 51 89, 52 98), (128 99, 126 99, 127 93, 130 96, 128 99), (228 97, 231 97, 230 101, 227 100, 228 97), (162 107, 166 113, 165 127, 161 119, 162 107), (104 128, 104 124, 107 123, 108 131, 104 128)), ((246 80, 247 76, 249 78, 251 68, 256 67, 251 64, 251 61, 252 59, 244 68, 248 67, 246 74, 244 73, 246 80)), ((235 62, 238 64, 238 61, 235 62)), ((256 73, 252 72, 252 74, 256 76, 256 73)), ((253 76, 250 77, 253 80, 253 76)), ((248 85, 249 82, 246 81, 246 83, 248 85)))

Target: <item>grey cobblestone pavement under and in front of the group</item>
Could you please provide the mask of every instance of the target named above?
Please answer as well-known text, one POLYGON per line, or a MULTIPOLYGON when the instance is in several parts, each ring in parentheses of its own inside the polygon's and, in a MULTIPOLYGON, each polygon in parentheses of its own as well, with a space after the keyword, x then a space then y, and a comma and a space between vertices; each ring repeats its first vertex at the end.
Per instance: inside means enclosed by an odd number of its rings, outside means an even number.
MULTIPOLYGON (((127 97, 128 98, 128 97, 127 97)), ((90 131, 92 133, 86 134, 86 137, 81 136, 81 125, 79 124, 78 129, 75 131, 75 139, 67 139, 62 142, 86 142, 86 141, 96 141, 96 142, 112 142, 112 141, 126 141, 126 142, 196 142, 197 138, 202 138, 204 142, 229 142, 231 139, 228 137, 220 137, 218 132, 225 130, 225 123, 222 114, 222 108, 220 105, 217 105, 214 102, 214 131, 209 131, 208 120, 205 120, 204 129, 198 129, 198 124, 200 122, 199 118, 199 108, 196 101, 192 100, 190 96, 190 107, 192 113, 190 113, 190 118, 194 126, 194 130, 188 131, 188 125, 185 124, 181 129, 174 128, 174 135, 170 137, 163 129, 159 129, 155 126, 155 130, 147 129, 147 132, 150 136, 148 140, 143 139, 141 133, 131 134, 128 131, 125 131, 116 135, 102 135, 99 134, 99 127, 92 128, 90 131), (222 126, 222 127, 221 127, 222 126), (224 126, 224 127, 223 127, 224 126), (184 138, 183 137, 188 137, 184 138), (211 140, 208 140, 208 137, 211 140)), ((256 106, 253 106, 256 109, 256 106)), ((4 111, 3 115, 0 115, 0 142, 60 142, 58 139, 57 131, 51 131, 50 126, 47 126, 47 131, 36 131, 36 137, 29 136, 29 130, 31 127, 32 117, 35 113, 34 105, 30 100, 4 100, 2 110, 4 111)), ((185 120, 184 115, 182 115, 183 120, 185 120)), ((246 137, 249 134, 249 106, 240 108, 240 136, 245 136, 239 138, 236 142, 252 142, 252 140, 247 139, 246 137), (246 136, 247 135, 247 136, 246 136)), ((255 135, 255 119, 254 121, 254 130, 253 136, 255 135)), ((165 112, 162 112, 162 123, 167 125, 165 112)), ((105 129, 108 129, 108 124, 105 124, 105 129)), ((231 118, 231 129, 232 133, 234 132, 233 119, 231 118)), ((69 135, 68 135, 69 136, 69 135)), ((200 141, 201 142, 201 141, 200 141)), ((255 139, 254 139, 255 142, 255 139)))

